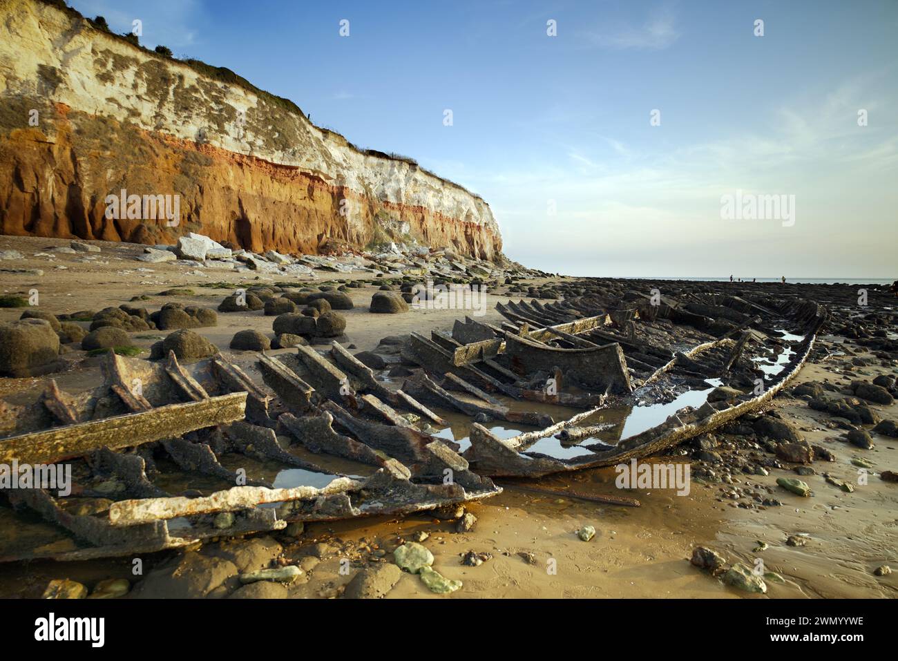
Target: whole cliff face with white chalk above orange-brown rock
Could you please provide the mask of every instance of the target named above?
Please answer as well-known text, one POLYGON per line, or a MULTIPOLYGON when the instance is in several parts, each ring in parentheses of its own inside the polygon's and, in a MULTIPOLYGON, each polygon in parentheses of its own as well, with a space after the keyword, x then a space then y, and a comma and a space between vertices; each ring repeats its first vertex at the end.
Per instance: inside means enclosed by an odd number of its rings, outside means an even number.
MULTIPOLYGON (((172 198, 173 199, 173 198, 172 198)), ((489 206, 416 163, 313 126, 225 69, 136 48, 72 10, 0 0, 0 233, 252 251, 386 239, 496 259, 489 206), (180 218, 107 217, 107 196, 180 196, 180 218)))

